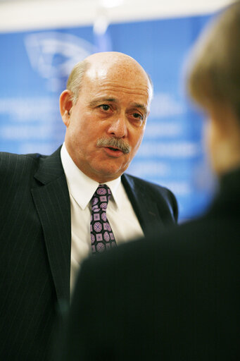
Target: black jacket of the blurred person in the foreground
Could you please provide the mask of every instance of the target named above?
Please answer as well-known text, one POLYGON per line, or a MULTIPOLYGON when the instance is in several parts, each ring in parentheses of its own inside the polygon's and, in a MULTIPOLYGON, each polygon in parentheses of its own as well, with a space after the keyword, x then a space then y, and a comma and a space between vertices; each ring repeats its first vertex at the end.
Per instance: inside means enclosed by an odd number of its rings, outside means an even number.
POLYGON ((206 216, 82 264, 58 360, 240 360, 239 271, 236 170, 206 216))

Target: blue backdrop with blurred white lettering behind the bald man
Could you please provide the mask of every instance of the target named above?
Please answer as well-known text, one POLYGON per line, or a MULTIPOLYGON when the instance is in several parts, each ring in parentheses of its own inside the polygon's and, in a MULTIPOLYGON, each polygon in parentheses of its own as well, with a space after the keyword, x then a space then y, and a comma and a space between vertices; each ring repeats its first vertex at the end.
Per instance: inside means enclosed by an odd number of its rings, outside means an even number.
POLYGON ((212 178, 202 117, 184 94, 182 65, 209 18, 114 24, 102 36, 92 27, 0 34, 0 150, 51 154, 64 139, 58 98, 72 66, 95 51, 122 51, 154 84, 144 140, 128 172, 168 186, 180 219, 193 218, 210 200, 212 178))

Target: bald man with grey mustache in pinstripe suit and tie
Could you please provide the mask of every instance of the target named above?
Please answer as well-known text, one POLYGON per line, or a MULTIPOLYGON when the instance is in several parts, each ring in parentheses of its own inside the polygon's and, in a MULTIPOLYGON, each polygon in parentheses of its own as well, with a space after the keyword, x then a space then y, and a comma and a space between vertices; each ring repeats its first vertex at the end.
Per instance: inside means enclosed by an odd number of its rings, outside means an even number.
POLYGON ((57 305, 68 307, 82 260, 175 223, 169 190, 124 174, 151 97, 137 61, 93 54, 60 97, 63 146, 0 154, 0 360, 48 360, 57 305))

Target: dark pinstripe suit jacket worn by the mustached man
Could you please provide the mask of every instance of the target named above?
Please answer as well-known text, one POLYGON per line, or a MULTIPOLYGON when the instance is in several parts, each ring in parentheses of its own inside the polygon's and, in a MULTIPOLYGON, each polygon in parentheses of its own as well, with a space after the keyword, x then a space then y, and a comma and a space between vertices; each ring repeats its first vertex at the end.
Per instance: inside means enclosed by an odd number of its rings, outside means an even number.
MULTIPOLYGON (((122 183, 145 234, 156 222, 175 222, 169 190, 127 175, 122 183)), ((0 360, 47 360, 56 305, 70 298, 70 199, 60 148, 47 157, 0 153, 0 194, 0 360)))

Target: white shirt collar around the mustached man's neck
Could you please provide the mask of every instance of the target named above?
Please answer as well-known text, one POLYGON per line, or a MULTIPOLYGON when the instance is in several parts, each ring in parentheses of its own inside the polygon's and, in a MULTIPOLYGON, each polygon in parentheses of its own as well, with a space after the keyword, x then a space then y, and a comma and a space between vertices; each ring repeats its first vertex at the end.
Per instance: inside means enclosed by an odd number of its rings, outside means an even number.
MULTIPOLYGON (((63 143, 63 146, 61 147, 61 161, 63 164, 70 195, 72 195, 72 197, 82 209, 85 209, 89 204, 91 197, 94 195, 94 192, 99 183, 80 171, 80 169, 76 166, 68 154, 65 143, 63 143)), ((110 191, 113 195, 113 202, 115 202, 117 208, 121 202, 120 192, 118 191, 120 189, 120 183, 120 177, 114 179, 113 181, 104 183, 110 188, 110 191)))

